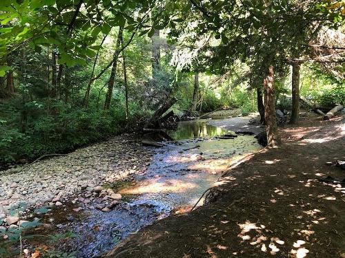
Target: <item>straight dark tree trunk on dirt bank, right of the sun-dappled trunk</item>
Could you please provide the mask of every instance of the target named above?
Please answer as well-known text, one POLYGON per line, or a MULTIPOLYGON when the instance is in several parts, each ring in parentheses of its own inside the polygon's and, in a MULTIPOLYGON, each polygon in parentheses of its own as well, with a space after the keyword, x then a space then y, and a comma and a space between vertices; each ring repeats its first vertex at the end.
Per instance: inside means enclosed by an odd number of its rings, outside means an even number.
POLYGON ((292 94, 293 111, 291 113, 290 124, 295 124, 299 118, 299 63, 293 63, 292 94))

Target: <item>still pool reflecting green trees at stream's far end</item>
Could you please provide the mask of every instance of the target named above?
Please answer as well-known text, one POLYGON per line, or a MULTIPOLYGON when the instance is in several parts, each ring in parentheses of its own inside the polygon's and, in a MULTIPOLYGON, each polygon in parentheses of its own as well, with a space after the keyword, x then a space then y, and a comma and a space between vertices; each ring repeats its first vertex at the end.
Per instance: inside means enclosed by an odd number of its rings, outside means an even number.
POLYGON ((182 140, 198 137, 214 137, 227 133, 226 129, 207 124, 207 120, 193 120, 179 122, 177 129, 169 131, 169 136, 174 140, 182 140))

